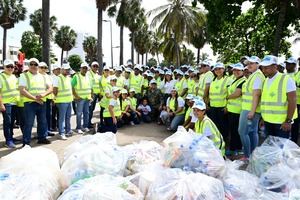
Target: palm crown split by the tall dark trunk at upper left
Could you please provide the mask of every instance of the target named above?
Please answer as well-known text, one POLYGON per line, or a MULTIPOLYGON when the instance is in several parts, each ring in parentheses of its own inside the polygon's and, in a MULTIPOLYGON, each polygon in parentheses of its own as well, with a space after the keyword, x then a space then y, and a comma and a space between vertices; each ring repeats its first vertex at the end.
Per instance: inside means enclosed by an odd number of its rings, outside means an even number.
MULTIPOLYGON (((29 24, 33 28, 33 32, 36 35, 40 36, 40 40, 42 38, 42 9, 38 9, 34 11, 34 13, 29 15, 30 22, 29 24)), ((53 40, 54 33, 57 31, 57 18, 55 16, 50 17, 50 39, 53 40)))

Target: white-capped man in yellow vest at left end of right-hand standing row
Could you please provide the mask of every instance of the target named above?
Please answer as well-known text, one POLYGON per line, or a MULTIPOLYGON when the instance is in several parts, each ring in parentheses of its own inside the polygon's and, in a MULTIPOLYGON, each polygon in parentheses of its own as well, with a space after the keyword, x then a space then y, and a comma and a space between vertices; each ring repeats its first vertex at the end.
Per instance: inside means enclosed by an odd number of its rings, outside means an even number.
POLYGON ((214 79, 214 74, 210 71, 211 64, 205 60, 200 65, 200 77, 197 96, 201 97, 204 102, 208 102, 209 85, 214 79))

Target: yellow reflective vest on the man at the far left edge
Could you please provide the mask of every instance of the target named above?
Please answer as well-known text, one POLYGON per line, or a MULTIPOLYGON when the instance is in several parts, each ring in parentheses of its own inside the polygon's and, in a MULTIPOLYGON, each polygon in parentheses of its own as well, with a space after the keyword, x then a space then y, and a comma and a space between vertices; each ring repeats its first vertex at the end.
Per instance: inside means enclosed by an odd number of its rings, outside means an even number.
POLYGON ((1 73, 0 82, 2 85, 2 103, 17 104, 20 99, 20 92, 18 90, 18 79, 16 76, 14 74, 7 75, 6 73, 1 73))

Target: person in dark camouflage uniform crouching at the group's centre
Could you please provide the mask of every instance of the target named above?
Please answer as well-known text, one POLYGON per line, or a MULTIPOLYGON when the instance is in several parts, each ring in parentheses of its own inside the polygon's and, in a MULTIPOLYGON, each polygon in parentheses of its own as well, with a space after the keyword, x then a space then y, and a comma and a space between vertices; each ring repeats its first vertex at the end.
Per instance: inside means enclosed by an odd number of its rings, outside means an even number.
POLYGON ((145 98, 148 99, 151 107, 151 120, 157 121, 164 99, 163 94, 161 93, 161 90, 157 88, 157 82, 154 79, 152 79, 149 83, 149 89, 145 94, 145 98))

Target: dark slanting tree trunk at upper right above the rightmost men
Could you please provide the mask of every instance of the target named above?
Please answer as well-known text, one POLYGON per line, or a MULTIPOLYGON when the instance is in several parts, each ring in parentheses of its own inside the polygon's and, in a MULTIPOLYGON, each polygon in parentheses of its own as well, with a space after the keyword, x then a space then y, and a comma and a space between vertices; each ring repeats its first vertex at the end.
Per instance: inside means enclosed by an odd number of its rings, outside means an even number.
POLYGON ((275 55, 275 56, 278 56, 279 49, 280 49, 280 42, 282 39, 282 30, 283 30, 283 26, 284 26, 288 3, 289 3, 289 1, 286 1, 286 0, 280 1, 280 11, 279 11, 278 21, 277 21, 277 26, 276 26, 276 32, 275 32, 275 37, 274 37, 274 47, 273 47, 273 55, 275 55))

